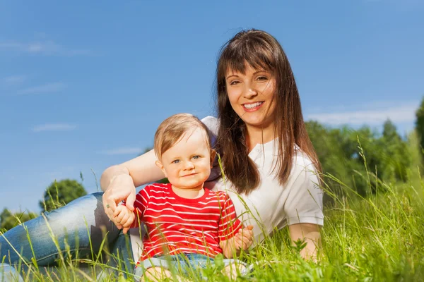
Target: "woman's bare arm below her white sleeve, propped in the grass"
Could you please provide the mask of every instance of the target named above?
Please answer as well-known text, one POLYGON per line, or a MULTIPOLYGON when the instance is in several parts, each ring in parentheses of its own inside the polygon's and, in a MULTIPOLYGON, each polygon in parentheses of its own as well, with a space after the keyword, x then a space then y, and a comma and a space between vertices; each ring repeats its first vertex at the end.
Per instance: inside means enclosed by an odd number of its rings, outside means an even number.
POLYGON ((319 226, 313 223, 297 223, 288 226, 292 245, 296 240, 305 240, 306 246, 300 251, 300 255, 304 259, 312 259, 316 261, 317 252, 321 246, 321 234, 319 226))

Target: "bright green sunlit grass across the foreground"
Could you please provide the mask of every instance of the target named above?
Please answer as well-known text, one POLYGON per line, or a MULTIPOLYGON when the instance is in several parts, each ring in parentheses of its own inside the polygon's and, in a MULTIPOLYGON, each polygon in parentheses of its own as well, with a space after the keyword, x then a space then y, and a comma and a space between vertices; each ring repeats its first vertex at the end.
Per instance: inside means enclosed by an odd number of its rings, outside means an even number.
MULTIPOLYGON (((363 177, 370 180, 370 193, 366 197, 343 185, 343 180, 323 176, 324 183, 337 185, 338 192, 323 185, 326 207, 317 262, 305 261, 298 255, 302 244, 290 245, 285 228, 242 255, 241 259, 254 267, 249 276, 238 277, 237 281, 423 281, 424 183, 419 167, 412 168, 408 181, 401 184, 372 180, 375 177, 372 172, 363 177)), ((84 260, 88 269, 81 271, 77 267, 80 262, 61 258, 61 266, 47 274, 31 266, 23 278, 25 281, 97 281, 102 269, 114 270, 104 260, 95 259, 84 260)), ((222 268, 218 260, 203 275, 208 281, 230 281, 221 274, 222 268)), ((119 276, 105 275, 105 281, 134 281, 131 270, 119 271, 119 276)), ((193 275, 187 281, 204 280, 193 275)))

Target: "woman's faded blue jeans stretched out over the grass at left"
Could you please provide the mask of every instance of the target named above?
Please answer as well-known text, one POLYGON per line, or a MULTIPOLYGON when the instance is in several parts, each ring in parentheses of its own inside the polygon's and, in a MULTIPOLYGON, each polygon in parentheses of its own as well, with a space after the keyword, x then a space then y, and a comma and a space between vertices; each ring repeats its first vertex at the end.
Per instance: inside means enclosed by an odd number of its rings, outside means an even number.
MULTIPOLYGON (((119 250, 119 258, 125 262, 119 266, 128 271, 134 269, 129 236, 109 221, 101 192, 80 197, 43 215, 0 235, 0 262, 4 256, 7 264, 16 265, 20 261, 33 264, 33 258, 38 266, 55 266, 61 256, 66 259, 69 255, 73 259, 97 259, 105 239, 103 247, 109 247, 112 255, 117 255, 119 250)), ((107 264, 117 266, 117 261, 108 259, 107 264)))

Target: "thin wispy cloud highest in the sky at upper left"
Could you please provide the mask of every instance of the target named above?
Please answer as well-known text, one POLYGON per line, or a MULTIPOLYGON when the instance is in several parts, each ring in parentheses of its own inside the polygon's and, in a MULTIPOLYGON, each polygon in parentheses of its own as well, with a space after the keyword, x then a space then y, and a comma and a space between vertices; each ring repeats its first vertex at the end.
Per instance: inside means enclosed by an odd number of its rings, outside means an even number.
POLYGON ((0 42, 0 49, 6 49, 11 51, 20 51, 29 54, 42 54, 49 56, 78 56, 78 55, 89 55, 91 52, 87 49, 69 49, 63 47, 51 40, 37 41, 37 42, 16 42, 7 41, 0 42))

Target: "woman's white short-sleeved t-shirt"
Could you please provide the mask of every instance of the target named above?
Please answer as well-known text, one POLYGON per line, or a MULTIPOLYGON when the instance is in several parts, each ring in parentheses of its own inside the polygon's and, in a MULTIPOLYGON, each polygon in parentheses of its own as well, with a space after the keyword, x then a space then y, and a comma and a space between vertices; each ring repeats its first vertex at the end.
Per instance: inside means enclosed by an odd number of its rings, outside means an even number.
MULTIPOLYGON (((207 116, 201 120, 216 136, 218 119, 207 116)), ((214 141, 213 141, 214 142, 214 141)), ((264 239, 264 234, 271 234, 275 229, 295 223, 314 223, 322 226, 323 192, 319 188, 317 174, 312 161, 296 147, 293 167, 285 185, 280 185, 273 171, 273 161, 278 156, 276 145, 278 139, 265 144, 258 144, 249 153, 250 159, 257 165, 261 183, 249 195, 238 195, 232 183, 220 177, 219 166, 213 166, 210 180, 205 187, 212 190, 225 190, 234 202, 237 216, 245 226, 254 226, 254 244, 264 239)), ((130 231, 134 259, 139 259, 142 243, 139 229, 130 231)))

